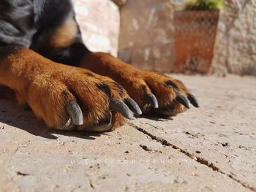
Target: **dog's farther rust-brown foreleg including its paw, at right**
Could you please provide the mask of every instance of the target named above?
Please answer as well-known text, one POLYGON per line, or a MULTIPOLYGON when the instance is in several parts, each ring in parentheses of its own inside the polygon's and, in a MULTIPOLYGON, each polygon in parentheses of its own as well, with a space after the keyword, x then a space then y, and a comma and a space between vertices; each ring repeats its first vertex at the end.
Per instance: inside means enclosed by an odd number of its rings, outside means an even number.
POLYGON ((199 107, 195 96, 181 81, 136 69, 109 54, 88 53, 80 62, 80 66, 116 80, 145 114, 154 112, 170 116, 184 112, 190 103, 199 107))

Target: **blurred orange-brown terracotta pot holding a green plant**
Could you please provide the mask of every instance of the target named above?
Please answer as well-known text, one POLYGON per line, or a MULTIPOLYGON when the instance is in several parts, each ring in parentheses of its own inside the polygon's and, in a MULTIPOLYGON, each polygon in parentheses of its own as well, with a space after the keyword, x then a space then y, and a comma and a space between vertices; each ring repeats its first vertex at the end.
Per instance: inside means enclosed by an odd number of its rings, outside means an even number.
POLYGON ((175 12, 176 72, 205 74, 211 68, 219 10, 175 12))

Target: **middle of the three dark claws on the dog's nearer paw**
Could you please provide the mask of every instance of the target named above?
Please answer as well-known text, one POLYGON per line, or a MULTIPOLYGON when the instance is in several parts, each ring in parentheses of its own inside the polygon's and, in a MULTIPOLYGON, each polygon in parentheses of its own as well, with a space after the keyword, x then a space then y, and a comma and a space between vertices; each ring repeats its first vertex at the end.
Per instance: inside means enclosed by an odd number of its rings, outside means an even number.
POLYGON ((127 119, 134 119, 133 112, 129 110, 129 107, 123 101, 118 99, 110 99, 110 110, 120 112, 127 119))

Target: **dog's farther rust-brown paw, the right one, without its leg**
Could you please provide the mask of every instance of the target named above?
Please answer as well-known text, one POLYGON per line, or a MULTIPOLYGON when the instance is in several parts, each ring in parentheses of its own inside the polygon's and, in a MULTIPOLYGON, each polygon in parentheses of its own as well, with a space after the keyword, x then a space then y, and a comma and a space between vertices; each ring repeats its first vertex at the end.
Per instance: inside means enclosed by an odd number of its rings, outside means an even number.
POLYGON ((190 104, 199 107, 195 96, 180 80, 132 68, 127 73, 129 75, 125 74, 120 83, 139 104, 143 114, 173 116, 189 109, 190 104))

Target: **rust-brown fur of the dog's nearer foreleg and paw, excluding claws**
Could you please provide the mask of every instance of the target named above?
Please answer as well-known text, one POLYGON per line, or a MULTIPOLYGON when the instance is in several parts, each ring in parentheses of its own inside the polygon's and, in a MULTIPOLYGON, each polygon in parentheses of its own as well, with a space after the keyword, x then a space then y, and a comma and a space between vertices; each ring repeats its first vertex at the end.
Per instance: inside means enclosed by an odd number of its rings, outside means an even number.
MULTIPOLYGON (((50 127, 67 122, 65 106, 76 97, 80 100, 85 122, 78 129, 109 118, 108 95, 97 88, 102 83, 110 87, 113 97, 121 100, 128 97, 125 91, 120 96, 113 80, 108 77, 56 64, 26 48, 20 48, 0 61, 0 84, 15 91, 19 103, 28 103, 37 117, 50 127)), ((113 127, 123 123, 124 117, 113 112, 113 127)))

